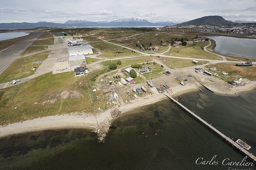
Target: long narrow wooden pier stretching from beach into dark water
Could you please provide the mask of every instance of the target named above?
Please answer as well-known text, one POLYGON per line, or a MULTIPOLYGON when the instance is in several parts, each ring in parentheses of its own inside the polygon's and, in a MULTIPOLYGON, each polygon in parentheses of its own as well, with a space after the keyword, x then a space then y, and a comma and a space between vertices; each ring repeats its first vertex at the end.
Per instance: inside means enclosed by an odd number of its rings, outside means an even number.
POLYGON ((220 136, 222 139, 224 139, 226 142, 232 144, 233 147, 236 147, 236 149, 239 150, 239 152, 243 153, 245 156, 247 156, 249 159, 251 159, 253 161, 253 163, 256 163, 256 157, 253 155, 253 153, 248 152, 246 149, 244 149, 243 147, 241 147, 239 144, 237 144, 235 141, 233 141, 232 139, 230 139, 229 137, 227 137, 226 135, 224 135, 223 133, 221 133, 219 130, 217 130, 215 127, 213 127, 212 125, 210 125, 209 123, 207 123, 206 121, 204 121, 203 119, 201 119, 199 116, 197 116, 195 113, 193 113, 192 111, 190 111, 188 108, 186 108, 185 106, 183 106, 180 102, 177 102, 175 99, 172 98, 172 96, 170 94, 166 94, 164 93, 167 97, 169 97, 169 99, 171 99, 173 102, 177 103, 177 105, 179 105, 180 107, 182 107, 184 110, 186 110, 188 113, 190 113, 192 116, 194 116, 196 119, 198 119, 200 122, 202 122, 204 125, 206 125, 207 127, 209 127, 209 129, 211 129, 212 131, 214 131, 216 134, 218 134, 218 136, 220 136))

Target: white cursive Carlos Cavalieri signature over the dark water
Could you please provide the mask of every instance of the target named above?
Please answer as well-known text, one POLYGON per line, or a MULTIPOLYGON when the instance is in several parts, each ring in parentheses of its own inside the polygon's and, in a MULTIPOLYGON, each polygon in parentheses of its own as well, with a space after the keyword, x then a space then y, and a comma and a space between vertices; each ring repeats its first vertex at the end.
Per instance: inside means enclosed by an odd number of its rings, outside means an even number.
POLYGON ((216 160, 217 155, 213 156, 212 159, 204 160, 204 158, 198 158, 195 163, 201 165, 224 165, 224 166, 251 166, 253 167, 255 164, 253 162, 246 162, 247 156, 244 157, 242 161, 231 161, 229 158, 223 159, 222 161, 216 160))

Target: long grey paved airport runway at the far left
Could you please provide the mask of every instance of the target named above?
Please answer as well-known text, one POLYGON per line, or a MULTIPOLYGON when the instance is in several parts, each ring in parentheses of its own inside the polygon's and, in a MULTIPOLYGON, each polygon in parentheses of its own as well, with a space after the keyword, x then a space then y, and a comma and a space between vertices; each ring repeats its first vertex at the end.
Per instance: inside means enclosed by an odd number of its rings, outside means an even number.
POLYGON ((15 59, 20 58, 20 54, 26 50, 38 37, 43 34, 44 31, 35 32, 30 37, 25 40, 19 41, 9 48, 0 52, 0 74, 15 61, 15 59))

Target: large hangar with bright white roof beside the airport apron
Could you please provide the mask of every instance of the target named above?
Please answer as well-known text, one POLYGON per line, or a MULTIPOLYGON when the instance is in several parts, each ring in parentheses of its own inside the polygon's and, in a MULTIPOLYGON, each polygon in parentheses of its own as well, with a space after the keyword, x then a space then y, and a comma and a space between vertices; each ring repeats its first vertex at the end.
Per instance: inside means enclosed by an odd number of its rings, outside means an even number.
POLYGON ((67 51, 70 56, 93 54, 90 45, 69 46, 67 51))

